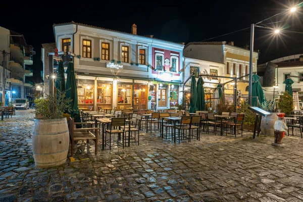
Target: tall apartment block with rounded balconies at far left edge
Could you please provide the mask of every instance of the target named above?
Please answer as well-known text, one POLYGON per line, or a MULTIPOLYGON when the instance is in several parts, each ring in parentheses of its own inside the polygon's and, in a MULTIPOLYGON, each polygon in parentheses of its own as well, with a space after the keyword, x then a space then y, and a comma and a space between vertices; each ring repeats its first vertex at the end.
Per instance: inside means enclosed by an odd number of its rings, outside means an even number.
MULTIPOLYGON (((31 69, 31 65, 33 65, 32 56, 35 55, 33 47, 26 44, 22 34, 3 27, 0 27, 0 37, 1 50, 5 50, 7 53, 6 64, 2 64, 2 67, 5 66, 7 71, 7 100, 8 98, 10 100, 14 100, 15 98, 31 98, 33 84, 26 78, 33 76, 31 69)), ((3 55, 1 57, 2 61, 4 61, 3 55)), ((3 85, 3 78, 1 80, 3 85)))

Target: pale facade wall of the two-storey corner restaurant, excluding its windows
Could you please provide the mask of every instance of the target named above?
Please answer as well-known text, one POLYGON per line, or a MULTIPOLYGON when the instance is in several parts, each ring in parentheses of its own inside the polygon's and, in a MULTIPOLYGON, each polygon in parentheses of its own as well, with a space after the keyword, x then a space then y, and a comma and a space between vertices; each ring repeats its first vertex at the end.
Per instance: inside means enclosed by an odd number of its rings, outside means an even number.
MULTIPOLYGON (((182 90, 183 73, 171 73, 168 71, 161 72, 153 71, 153 64, 155 63, 155 48, 163 49, 165 52, 178 53, 179 55, 179 70, 183 70, 182 56, 183 44, 159 40, 155 38, 148 38, 139 35, 128 34, 124 32, 112 31, 103 28, 96 28, 92 26, 79 25, 77 23, 54 25, 56 44, 59 51, 62 51, 62 39, 71 38, 71 50, 81 58, 74 58, 74 68, 79 78, 89 77, 89 79, 97 79, 113 82, 113 99, 112 106, 116 107, 117 104, 117 83, 141 83, 150 84, 163 83, 165 85, 174 84, 180 85, 179 91, 182 90), (82 41, 83 39, 91 40, 92 56, 91 58, 84 58, 82 54, 82 41), (110 44, 110 60, 102 60, 102 43, 110 44), (122 61, 122 45, 129 47, 129 62, 119 63, 122 61), (145 49, 146 64, 136 65, 139 63, 139 48, 145 49), (99 57, 100 60, 96 61, 93 58, 99 57), (108 68, 107 65, 115 60, 115 65, 123 65, 122 69, 108 68), (133 63, 133 64, 131 64, 133 63)), ((169 92, 169 88, 168 88, 169 92)), ((148 96, 151 92, 148 91, 148 96)), ((179 102, 182 93, 179 93, 179 102)), ((158 100, 158 94, 156 99, 158 100)), ((169 98, 167 99, 169 108, 169 98)), ((151 101, 148 101, 148 108, 151 107, 151 101)), ((158 109, 161 109, 158 108, 158 109)))

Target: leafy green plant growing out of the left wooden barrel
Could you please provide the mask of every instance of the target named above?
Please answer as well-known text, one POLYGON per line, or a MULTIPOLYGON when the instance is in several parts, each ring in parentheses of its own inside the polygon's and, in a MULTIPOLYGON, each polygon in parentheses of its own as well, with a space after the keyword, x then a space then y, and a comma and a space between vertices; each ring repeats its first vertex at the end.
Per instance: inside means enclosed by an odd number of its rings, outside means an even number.
POLYGON ((71 112, 70 98, 66 98, 65 91, 57 89, 57 97, 48 95, 46 98, 34 100, 37 119, 61 119, 63 114, 71 112))

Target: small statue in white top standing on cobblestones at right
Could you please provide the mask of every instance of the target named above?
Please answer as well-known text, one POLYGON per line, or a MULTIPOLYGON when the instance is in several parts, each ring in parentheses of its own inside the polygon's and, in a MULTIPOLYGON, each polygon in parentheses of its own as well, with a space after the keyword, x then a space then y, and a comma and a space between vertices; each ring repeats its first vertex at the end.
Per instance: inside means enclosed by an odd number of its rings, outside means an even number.
POLYGON ((288 130, 288 127, 285 124, 284 115, 285 115, 285 113, 277 113, 279 120, 275 121, 275 124, 274 124, 275 142, 272 143, 272 145, 274 145, 274 146, 283 145, 281 140, 284 137, 285 132, 288 130))

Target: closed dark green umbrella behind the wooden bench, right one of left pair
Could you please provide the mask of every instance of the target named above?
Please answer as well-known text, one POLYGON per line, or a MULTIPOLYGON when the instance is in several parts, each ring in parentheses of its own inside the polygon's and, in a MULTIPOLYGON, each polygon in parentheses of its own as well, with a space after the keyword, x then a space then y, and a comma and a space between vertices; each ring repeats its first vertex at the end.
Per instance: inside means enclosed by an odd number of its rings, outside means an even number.
POLYGON ((77 94, 77 84, 74 70, 74 63, 69 62, 67 64, 67 79, 66 79, 66 98, 71 98, 71 117, 75 118, 75 122, 80 123, 80 111, 78 109, 78 94, 77 94))

